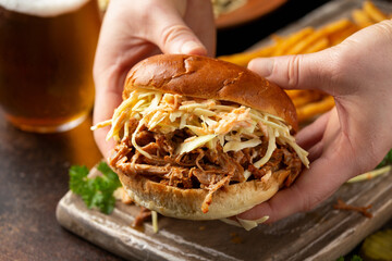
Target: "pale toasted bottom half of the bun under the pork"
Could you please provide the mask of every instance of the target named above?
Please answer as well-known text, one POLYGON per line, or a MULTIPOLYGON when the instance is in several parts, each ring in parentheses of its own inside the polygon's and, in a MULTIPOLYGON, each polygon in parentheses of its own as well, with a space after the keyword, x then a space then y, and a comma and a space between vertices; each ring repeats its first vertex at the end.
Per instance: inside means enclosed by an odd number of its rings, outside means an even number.
POLYGON ((152 182, 142 175, 128 176, 117 169, 124 189, 135 203, 171 217, 218 220, 240 214, 270 199, 280 187, 278 175, 265 181, 248 181, 213 192, 208 212, 201 211, 207 189, 182 189, 152 182))

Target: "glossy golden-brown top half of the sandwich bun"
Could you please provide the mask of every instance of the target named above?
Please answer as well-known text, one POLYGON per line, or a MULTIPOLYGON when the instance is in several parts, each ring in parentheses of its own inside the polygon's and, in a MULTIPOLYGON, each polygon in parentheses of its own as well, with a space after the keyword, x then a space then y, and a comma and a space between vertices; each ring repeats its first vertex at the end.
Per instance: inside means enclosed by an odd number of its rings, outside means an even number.
POLYGON ((278 85, 254 72, 218 59, 160 54, 137 63, 127 74, 123 99, 133 88, 232 101, 279 116, 296 132, 296 111, 278 85))

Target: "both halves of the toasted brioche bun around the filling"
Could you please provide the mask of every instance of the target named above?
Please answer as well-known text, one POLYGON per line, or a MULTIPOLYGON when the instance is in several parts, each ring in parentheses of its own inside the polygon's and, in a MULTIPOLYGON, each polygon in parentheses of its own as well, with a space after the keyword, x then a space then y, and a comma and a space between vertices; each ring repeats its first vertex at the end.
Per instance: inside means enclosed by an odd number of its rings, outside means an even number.
MULTIPOLYGON (((283 119, 297 129, 295 108, 277 85, 247 69, 217 59, 161 54, 136 64, 128 73, 123 99, 134 88, 161 90, 187 97, 232 101, 283 119)), ((109 160, 110 162, 110 160, 109 160)), ((152 182, 112 165, 128 196, 139 206, 163 215, 187 220, 215 220, 242 213, 270 199, 286 175, 232 184, 215 191, 207 213, 201 204, 207 189, 182 189, 152 182)))

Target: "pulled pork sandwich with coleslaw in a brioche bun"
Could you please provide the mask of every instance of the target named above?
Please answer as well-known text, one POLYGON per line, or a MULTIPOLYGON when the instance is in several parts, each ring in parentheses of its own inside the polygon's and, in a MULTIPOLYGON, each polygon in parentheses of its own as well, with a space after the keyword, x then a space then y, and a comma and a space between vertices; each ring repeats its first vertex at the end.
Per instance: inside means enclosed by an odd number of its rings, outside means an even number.
POLYGON ((107 138, 109 164, 138 204, 222 219, 289 187, 308 165, 295 108, 277 85, 216 59, 161 54, 128 73, 107 138))

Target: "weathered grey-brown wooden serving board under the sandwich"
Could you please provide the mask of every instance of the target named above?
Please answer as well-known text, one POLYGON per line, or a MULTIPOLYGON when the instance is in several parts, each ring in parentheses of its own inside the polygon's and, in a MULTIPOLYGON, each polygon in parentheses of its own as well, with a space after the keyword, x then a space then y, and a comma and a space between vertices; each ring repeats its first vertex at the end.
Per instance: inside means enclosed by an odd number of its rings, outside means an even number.
MULTIPOLYGON (((391 3, 376 2, 391 11, 391 3)), ((304 26, 321 26, 348 16, 359 0, 335 0, 278 34, 304 26)), ((95 169, 93 171, 96 171, 95 169)), ((392 217, 392 175, 344 184, 332 197, 308 213, 298 213, 250 232, 221 221, 184 221, 159 216, 159 232, 150 222, 134 229, 138 207, 121 202, 112 214, 88 210, 78 196, 68 192, 59 202, 59 223, 81 237, 134 260, 335 260, 392 217), (334 210, 338 199, 368 206, 373 217, 334 210)))

